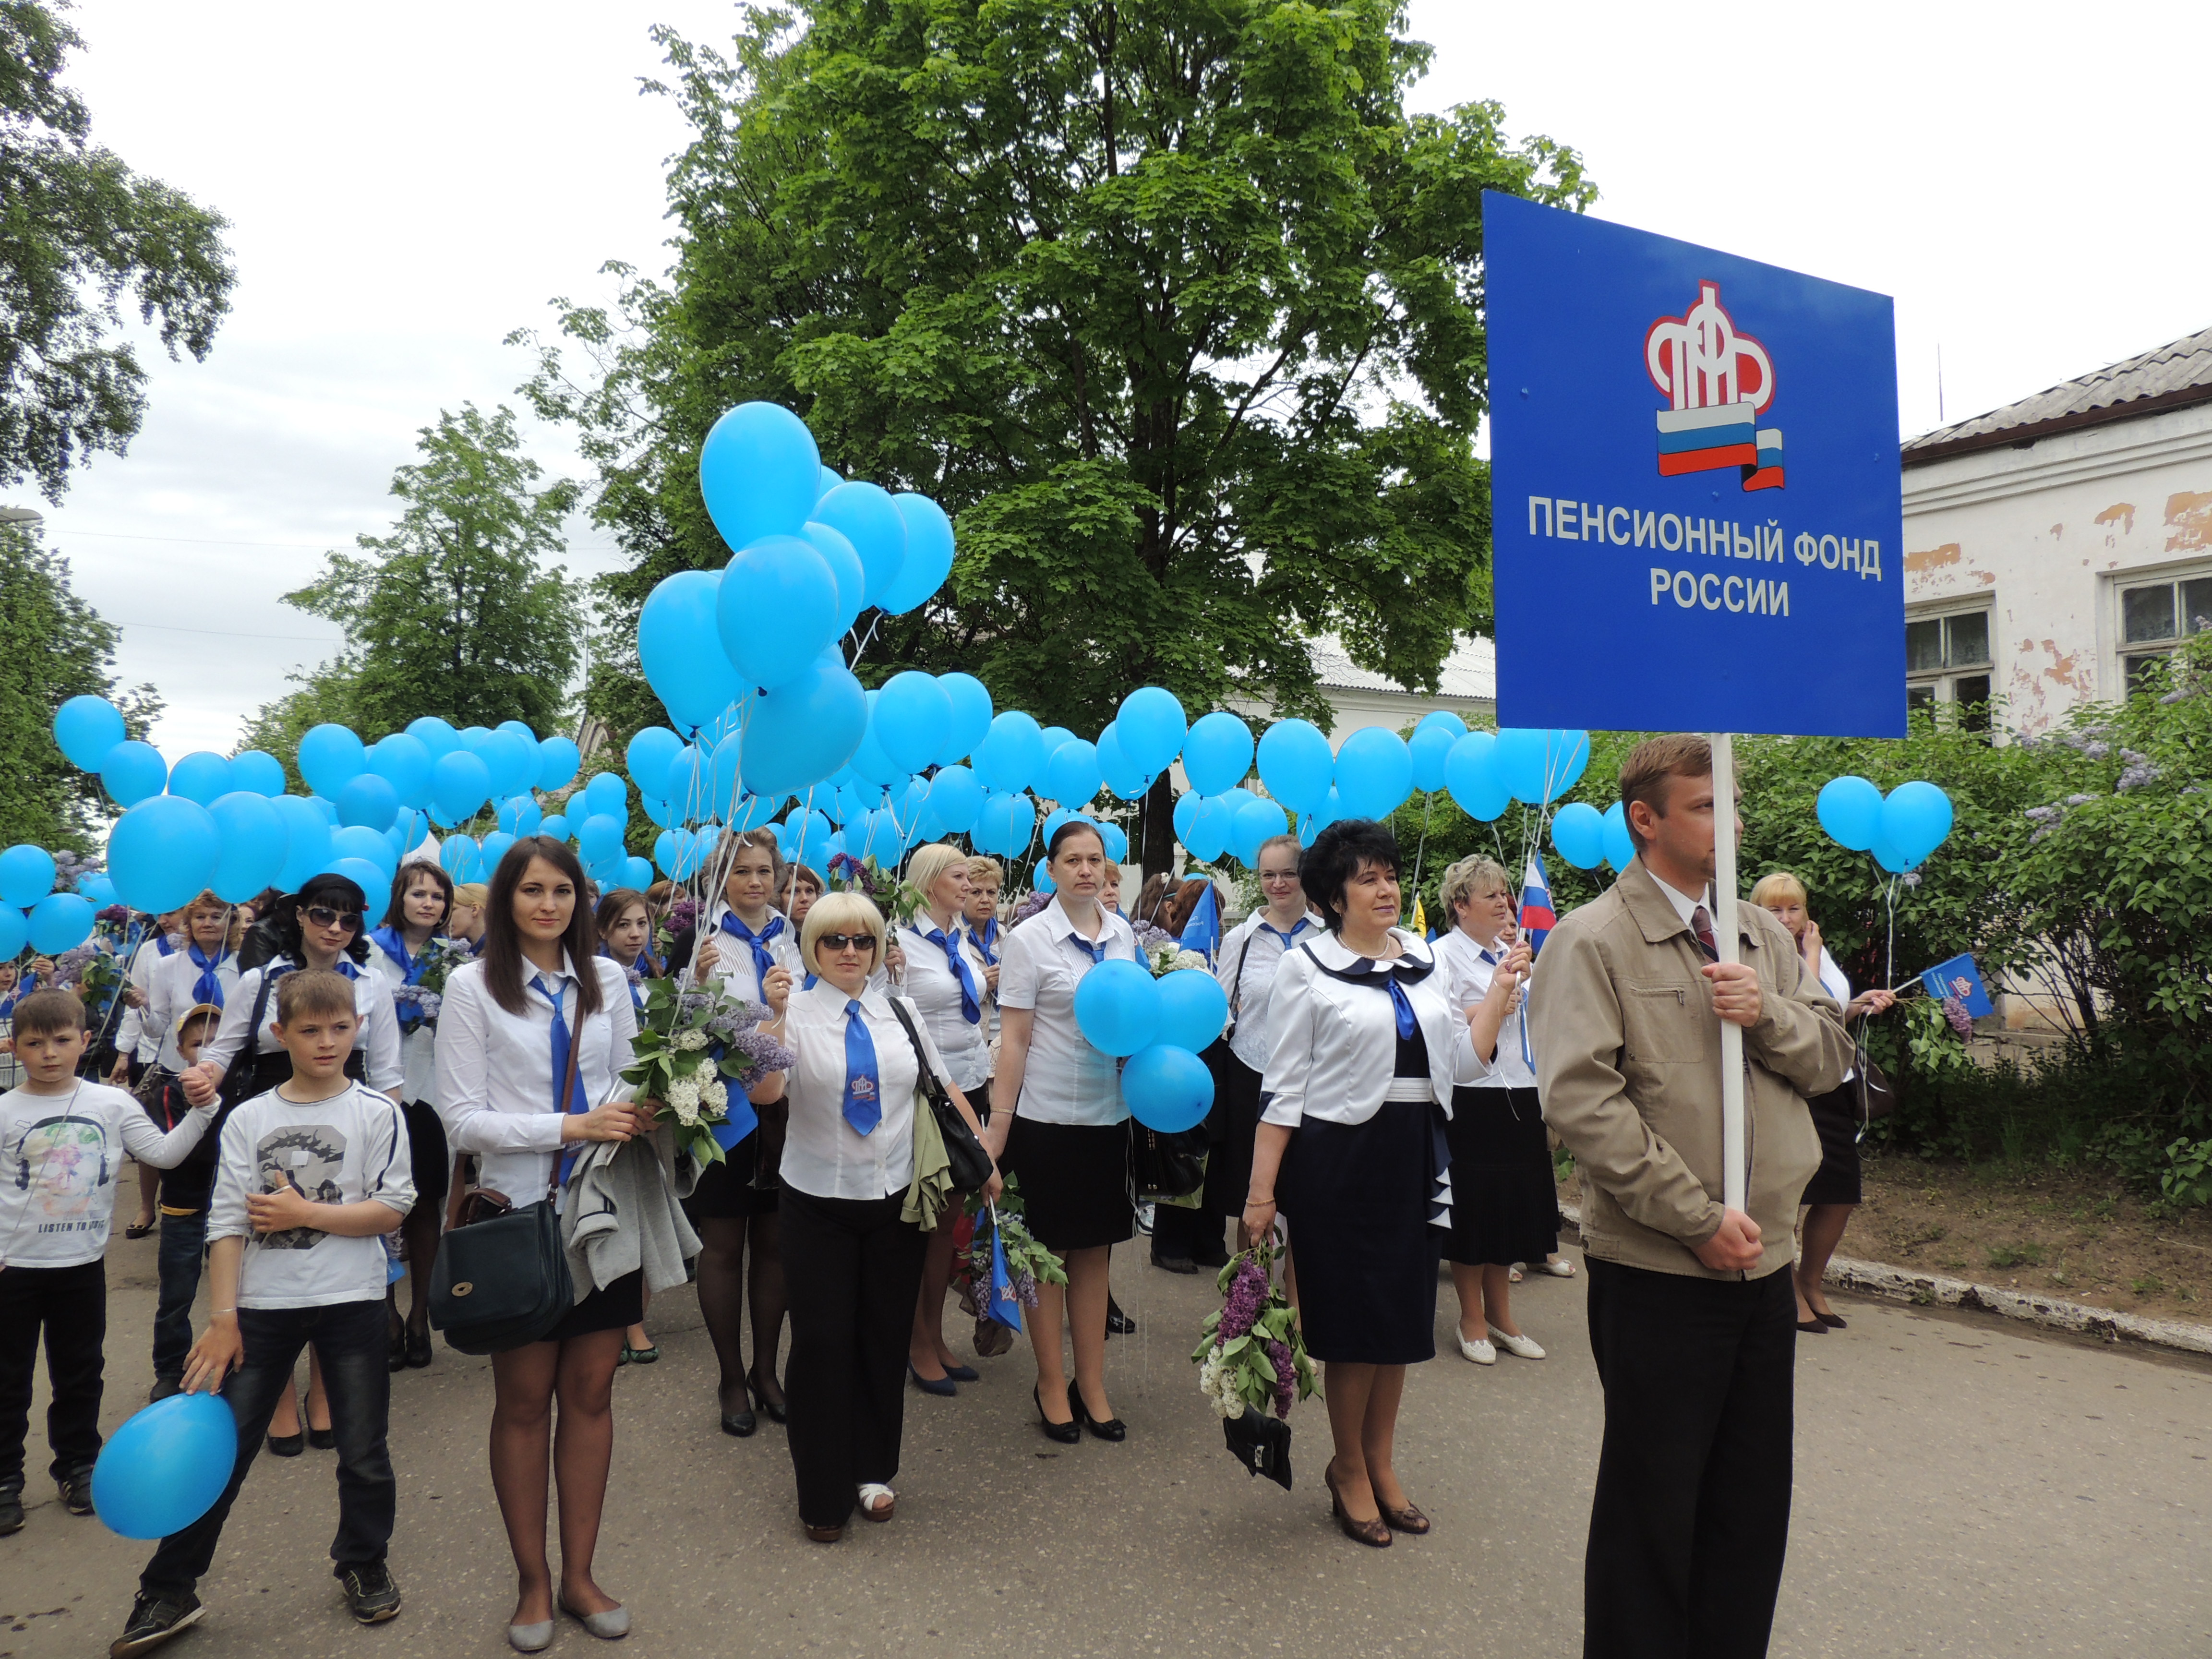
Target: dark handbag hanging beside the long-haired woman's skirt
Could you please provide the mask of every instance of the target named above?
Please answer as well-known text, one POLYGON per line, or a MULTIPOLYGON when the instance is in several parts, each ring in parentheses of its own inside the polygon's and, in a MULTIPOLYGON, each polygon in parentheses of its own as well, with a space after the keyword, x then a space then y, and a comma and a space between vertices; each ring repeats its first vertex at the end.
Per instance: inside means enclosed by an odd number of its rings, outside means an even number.
MULTIPOLYGON (((575 1095, 582 1042, 568 1044, 562 1099, 575 1095)), ((560 1155, 553 1155, 560 1170, 560 1155)), ((575 1301, 553 1188, 515 1208, 504 1192, 473 1188, 462 1219, 438 1241, 429 1270, 429 1323, 462 1354, 504 1354, 542 1343, 575 1301)))

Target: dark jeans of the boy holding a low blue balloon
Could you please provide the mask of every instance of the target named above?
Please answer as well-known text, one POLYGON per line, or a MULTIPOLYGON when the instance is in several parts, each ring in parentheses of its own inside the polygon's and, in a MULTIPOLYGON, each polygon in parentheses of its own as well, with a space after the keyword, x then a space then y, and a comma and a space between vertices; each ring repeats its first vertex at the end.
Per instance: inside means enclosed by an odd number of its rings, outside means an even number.
POLYGON ((323 1356, 323 1391, 330 1396, 330 1427, 338 1436, 338 1533, 330 1542, 336 1573, 385 1559, 398 1482, 385 1449, 392 1416, 392 1371, 385 1365, 385 1301, 330 1303, 325 1307, 241 1307, 239 1334, 246 1363, 232 1371, 223 1398, 239 1420, 239 1462, 230 1486, 206 1515, 170 1533, 139 1573, 139 1588, 153 1595, 188 1595, 215 1559, 215 1542, 237 1502, 246 1471, 276 1416, 283 1385, 292 1380, 299 1352, 314 1343, 323 1356))

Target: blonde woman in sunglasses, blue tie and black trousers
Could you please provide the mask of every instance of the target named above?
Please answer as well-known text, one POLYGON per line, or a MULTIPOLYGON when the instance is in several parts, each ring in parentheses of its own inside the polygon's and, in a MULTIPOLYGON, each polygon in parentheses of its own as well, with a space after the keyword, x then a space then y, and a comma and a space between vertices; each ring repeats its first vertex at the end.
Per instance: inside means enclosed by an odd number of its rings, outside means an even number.
MULTIPOLYGON (((768 1026, 794 1055, 781 1073, 783 1232, 792 1287, 790 1438, 799 1522, 816 1544, 845 1535, 854 1504, 891 1520, 905 1422, 907 1340, 922 1283, 922 1230, 900 1219, 914 1183, 922 1064, 969 1119, 929 1029, 914 1035, 869 975, 885 956, 883 914, 858 894, 814 900, 801 960, 816 975, 768 1026)), ((770 1091, 759 1091, 761 1099, 770 1091)), ((991 1175, 987 1197, 998 1197, 991 1175)))

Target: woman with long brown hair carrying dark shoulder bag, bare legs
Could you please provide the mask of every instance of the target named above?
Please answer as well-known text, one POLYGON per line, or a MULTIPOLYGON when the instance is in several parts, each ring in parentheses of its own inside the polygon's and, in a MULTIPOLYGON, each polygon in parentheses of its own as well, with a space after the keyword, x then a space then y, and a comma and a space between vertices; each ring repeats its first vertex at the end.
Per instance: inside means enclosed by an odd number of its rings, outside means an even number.
MULTIPOLYGON (((515 1208, 562 1179, 564 1148, 646 1128, 622 1068, 637 1018, 619 967, 597 956, 584 867, 566 843, 524 836, 491 876, 484 953, 453 969, 438 1013, 438 1115, 478 1186, 515 1208), (575 1093, 562 1102, 568 1048, 575 1093)), ((641 1316, 637 1272, 595 1290, 542 1343, 491 1356, 491 1486, 520 1588, 507 1641, 540 1652, 555 1606, 597 1637, 630 1615, 591 1575, 615 1449, 615 1358, 641 1316), (560 1440, 553 1442, 553 1402, 560 1440), (549 1455, 549 1451, 553 1455, 549 1455), (546 1562, 546 1471, 560 1482, 560 1595, 546 1562)))

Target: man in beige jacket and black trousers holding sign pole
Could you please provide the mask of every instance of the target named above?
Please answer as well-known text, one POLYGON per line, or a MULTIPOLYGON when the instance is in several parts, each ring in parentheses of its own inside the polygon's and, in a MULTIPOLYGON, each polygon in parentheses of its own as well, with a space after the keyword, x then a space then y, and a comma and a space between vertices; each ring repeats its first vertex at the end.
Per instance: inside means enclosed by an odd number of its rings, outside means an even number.
POLYGON ((1805 1099, 1843 1082, 1851 1040, 1767 911, 1728 905, 1739 945, 1719 949, 1712 772, 1703 737, 1635 748, 1637 858, 1553 929, 1528 998, 1544 1119, 1582 1170, 1606 1389, 1586 1659, 1763 1655, 1790 1540, 1787 1270, 1820 1166, 1805 1099), (1723 1020, 1743 1033, 1741 1208, 1725 1201, 1723 1020))

